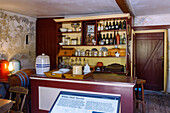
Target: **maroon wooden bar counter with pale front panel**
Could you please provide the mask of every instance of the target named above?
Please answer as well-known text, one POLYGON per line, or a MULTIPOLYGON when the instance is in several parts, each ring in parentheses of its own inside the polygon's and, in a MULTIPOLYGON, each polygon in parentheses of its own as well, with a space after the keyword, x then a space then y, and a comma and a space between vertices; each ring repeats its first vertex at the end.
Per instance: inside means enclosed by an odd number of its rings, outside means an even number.
POLYGON ((48 113, 60 91, 121 95, 121 113, 135 112, 136 78, 133 77, 93 74, 77 80, 32 75, 30 80, 31 113, 48 113))

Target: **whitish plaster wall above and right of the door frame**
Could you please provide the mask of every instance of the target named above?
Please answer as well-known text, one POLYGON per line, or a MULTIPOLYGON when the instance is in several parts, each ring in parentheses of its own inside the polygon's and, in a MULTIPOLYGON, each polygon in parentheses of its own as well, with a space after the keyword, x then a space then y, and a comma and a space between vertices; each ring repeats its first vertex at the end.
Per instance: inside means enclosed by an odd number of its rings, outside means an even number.
MULTIPOLYGON (((170 14, 137 16, 134 19, 134 26, 170 25, 170 14)), ((167 92, 170 93, 170 29, 168 29, 168 84, 167 92)))

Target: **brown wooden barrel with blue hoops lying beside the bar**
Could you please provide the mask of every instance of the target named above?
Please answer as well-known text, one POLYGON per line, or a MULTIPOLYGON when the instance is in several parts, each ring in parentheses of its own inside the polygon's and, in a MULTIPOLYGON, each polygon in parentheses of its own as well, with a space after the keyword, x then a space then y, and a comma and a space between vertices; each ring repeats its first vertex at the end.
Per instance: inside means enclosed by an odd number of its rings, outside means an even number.
POLYGON ((34 69, 22 69, 9 77, 10 86, 29 86, 29 76, 35 74, 34 69))

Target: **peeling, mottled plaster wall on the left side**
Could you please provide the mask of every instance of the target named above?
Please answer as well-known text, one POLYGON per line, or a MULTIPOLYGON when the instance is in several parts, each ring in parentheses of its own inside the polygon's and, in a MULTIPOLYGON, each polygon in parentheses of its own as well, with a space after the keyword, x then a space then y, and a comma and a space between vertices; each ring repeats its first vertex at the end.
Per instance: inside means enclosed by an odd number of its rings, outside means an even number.
POLYGON ((36 18, 0 10, 1 56, 7 60, 20 60, 21 68, 34 67, 35 32, 36 18), (26 35, 28 35, 28 44, 26 44, 26 35))

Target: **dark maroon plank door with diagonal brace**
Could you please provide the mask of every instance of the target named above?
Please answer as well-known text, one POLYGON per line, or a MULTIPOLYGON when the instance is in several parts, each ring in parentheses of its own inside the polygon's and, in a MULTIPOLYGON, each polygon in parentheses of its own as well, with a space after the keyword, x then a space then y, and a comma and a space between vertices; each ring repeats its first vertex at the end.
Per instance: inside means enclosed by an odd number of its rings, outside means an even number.
POLYGON ((145 89, 163 90, 164 34, 135 34, 136 76, 145 79, 145 89))

